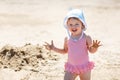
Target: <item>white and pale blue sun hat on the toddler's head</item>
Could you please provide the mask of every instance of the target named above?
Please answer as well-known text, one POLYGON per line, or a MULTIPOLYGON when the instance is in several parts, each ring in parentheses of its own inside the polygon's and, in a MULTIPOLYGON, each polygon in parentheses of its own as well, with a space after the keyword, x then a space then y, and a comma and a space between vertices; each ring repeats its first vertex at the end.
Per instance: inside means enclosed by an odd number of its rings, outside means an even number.
POLYGON ((73 9, 70 12, 68 12, 68 14, 66 15, 65 19, 64 19, 64 26, 65 28, 67 28, 67 21, 70 17, 75 17, 78 18, 84 25, 84 31, 87 29, 87 24, 85 22, 85 18, 83 15, 83 11, 80 9, 73 9))

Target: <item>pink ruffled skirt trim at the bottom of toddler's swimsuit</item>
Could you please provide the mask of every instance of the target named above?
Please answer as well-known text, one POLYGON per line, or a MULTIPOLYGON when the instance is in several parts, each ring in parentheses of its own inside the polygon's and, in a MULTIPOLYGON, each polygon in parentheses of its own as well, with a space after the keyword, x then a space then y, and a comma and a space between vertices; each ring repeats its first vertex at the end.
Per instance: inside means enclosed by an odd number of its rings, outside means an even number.
POLYGON ((81 74, 84 72, 87 72, 89 70, 92 70, 94 67, 93 62, 88 62, 85 65, 71 65, 69 63, 65 64, 65 71, 71 72, 71 73, 76 73, 76 74, 81 74))

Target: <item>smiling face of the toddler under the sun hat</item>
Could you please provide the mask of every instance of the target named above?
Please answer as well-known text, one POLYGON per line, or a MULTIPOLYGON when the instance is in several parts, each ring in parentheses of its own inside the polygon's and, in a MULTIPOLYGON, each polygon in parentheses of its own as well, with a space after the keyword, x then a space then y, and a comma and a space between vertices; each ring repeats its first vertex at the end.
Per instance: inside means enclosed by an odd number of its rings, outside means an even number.
POLYGON ((77 36, 81 34, 82 29, 84 28, 83 23, 76 18, 69 18, 67 21, 67 26, 72 35, 77 36))

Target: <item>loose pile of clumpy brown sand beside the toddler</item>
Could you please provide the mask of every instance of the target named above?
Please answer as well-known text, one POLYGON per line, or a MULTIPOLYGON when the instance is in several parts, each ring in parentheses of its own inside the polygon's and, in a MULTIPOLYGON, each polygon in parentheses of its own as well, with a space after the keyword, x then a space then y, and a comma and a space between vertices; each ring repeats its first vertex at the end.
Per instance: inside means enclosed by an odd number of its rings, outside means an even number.
POLYGON ((49 60, 58 60, 56 54, 46 51, 43 46, 25 44, 22 47, 5 45, 0 50, 0 68, 11 68, 15 71, 29 69, 39 72, 41 66, 49 60))

